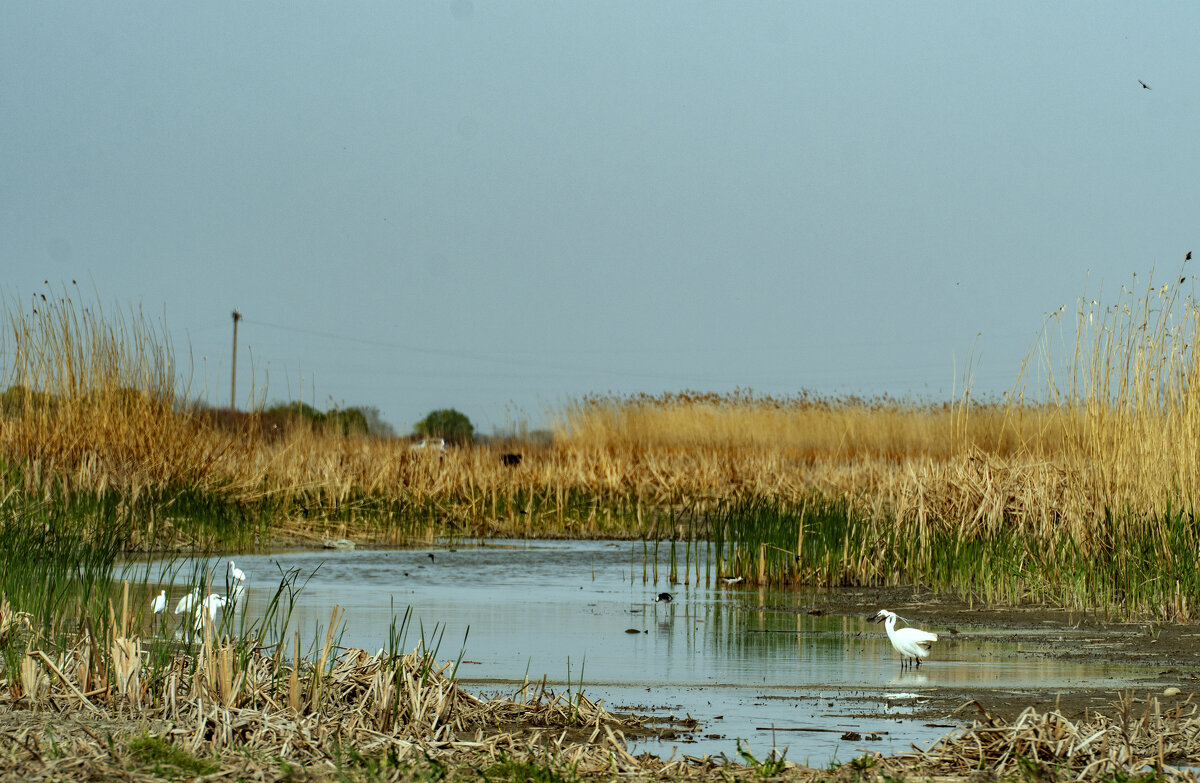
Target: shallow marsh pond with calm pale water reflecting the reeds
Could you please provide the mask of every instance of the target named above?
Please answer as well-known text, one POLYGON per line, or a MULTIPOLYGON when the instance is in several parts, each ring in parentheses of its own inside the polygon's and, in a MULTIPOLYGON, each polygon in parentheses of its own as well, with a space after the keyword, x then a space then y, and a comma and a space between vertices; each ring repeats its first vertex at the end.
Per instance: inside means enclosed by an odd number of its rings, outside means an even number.
MULTIPOLYGON (((234 556, 248 584, 247 617, 263 611, 282 572, 298 569, 292 628, 305 644, 324 636, 334 605, 344 610, 341 645, 386 648, 394 618, 412 606, 404 650, 422 638, 437 657, 462 653, 457 676, 476 694, 512 694, 524 677, 558 691, 582 687, 608 710, 695 718, 670 739, 632 741, 630 751, 720 755, 737 760, 742 740, 757 757, 787 749, 823 766, 864 752, 928 747, 966 724, 955 707, 986 697, 1040 698, 1061 692, 1115 694, 1144 688, 1162 665, 1097 656, 1058 659, 1021 629, 954 629, 917 609, 826 606, 838 591, 758 590, 739 585, 654 581, 638 542, 499 540, 431 549, 283 551, 234 556), (432 555, 432 557, 430 556, 432 555), (643 576, 644 574, 644 576, 643 576), (658 602, 661 592, 674 599, 658 602), (940 634, 931 658, 901 669, 882 626, 864 616, 898 609, 940 634)), ((226 558, 205 558, 215 581, 226 558)), ((174 561, 170 605, 192 566, 174 561)), ((158 574, 157 567, 152 570, 158 574)), ((960 616, 961 617, 961 616, 960 616)), ((962 620, 956 621, 960 626, 962 620)), ((1056 644, 1082 646, 1060 623, 1056 644)))

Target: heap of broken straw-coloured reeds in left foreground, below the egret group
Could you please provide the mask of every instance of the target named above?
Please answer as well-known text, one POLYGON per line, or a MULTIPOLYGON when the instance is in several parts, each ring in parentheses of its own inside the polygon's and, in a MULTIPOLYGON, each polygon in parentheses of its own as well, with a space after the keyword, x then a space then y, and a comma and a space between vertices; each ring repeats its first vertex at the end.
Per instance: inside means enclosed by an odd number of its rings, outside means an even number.
MULTIPOLYGON (((553 757, 580 770, 619 770, 637 766, 625 734, 652 733, 641 718, 610 713, 577 691, 556 694, 545 681, 526 682, 508 698, 475 698, 448 674, 452 662, 438 663, 424 640, 403 655, 341 648, 336 608, 310 655, 301 655, 298 634, 264 644, 262 628, 229 636, 224 623, 205 622, 198 646, 191 633, 173 641, 161 635, 164 628, 144 636, 128 582, 109 612, 100 635, 86 623, 61 646, 0 600, 5 642, 17 655, 0 673, 0 733, 13 713, 74 715, 140 727, 163 747, 218 759, 217 766, 258 758, 326 771, 348 753, 397 769, 445 758, 553 757)), ((53 759, 49 771, 61 775, 61 765, 116 755, 112 737, 100 742, 86 721, 58 739, 52 725, 12 737, 5 769, 53 759)))

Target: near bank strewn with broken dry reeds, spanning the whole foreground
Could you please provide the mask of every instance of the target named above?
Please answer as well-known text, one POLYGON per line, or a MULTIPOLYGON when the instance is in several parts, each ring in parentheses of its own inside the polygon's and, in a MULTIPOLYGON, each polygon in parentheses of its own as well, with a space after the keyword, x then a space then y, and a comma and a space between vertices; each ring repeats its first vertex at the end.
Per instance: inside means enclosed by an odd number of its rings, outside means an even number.
POLYGON ((407 655, 337 647, 336 608, 324 642, 301 656, 299 638, 265 644, 256 629, 226 635, 226 624, 173 641, 166 623, 143 624, 128 597, 125 585, 112 622, 65 646, 0 606, 5 644, 19 641, 0 674, 0 779, 1158 781, 1195 779, 1178 767, 1200 758, 1190 700, 1163 709, 1124 694, 1076 719, 1028 709, 1004 722, 966 704, 979 717, 928 749, 828 770, 740 745, 740 759, 665 761, 631 755, 628 739, 676 725, 655 729, 545 681, 472 697, 424 645, 407 655))

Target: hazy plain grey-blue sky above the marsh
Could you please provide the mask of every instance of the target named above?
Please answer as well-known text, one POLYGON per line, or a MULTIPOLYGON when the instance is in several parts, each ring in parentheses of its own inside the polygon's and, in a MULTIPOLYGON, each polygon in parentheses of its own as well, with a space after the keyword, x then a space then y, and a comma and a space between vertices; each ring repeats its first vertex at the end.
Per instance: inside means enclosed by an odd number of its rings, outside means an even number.
MULTIPOLYGON (((1200 250, 1200 5, 0 1, 0 285, 188 394, 1002 394, 1200 250), (1141 86, 1145 82, 1150 89, 1141 86)), ((1190 283, 1189 283, 1190 285, 1190 283)))

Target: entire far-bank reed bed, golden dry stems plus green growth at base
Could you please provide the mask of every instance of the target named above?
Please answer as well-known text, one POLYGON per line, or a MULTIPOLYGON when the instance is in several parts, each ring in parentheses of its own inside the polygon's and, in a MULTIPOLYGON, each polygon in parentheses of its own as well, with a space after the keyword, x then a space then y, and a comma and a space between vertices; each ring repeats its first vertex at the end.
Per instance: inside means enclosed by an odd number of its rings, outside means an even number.
POLYGON ((587 398, 548 444, 444 454, 222 424, 178 388, 164 330, 79 298, 8 309, 0 497, 109 546, 654 538, 746 582, 1196 616, 1200 309, 1169 286, 1051 316, 1002 400, 587 398))

